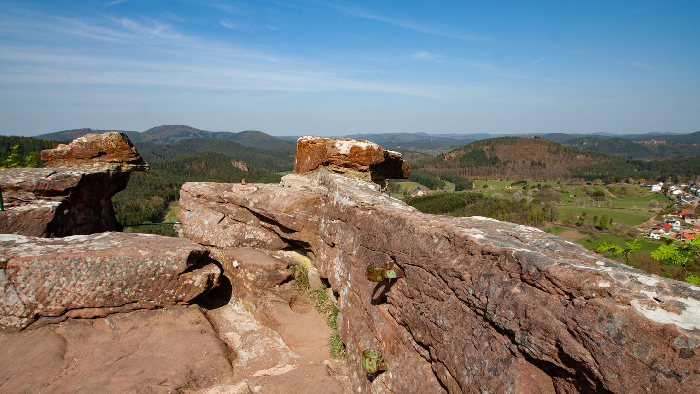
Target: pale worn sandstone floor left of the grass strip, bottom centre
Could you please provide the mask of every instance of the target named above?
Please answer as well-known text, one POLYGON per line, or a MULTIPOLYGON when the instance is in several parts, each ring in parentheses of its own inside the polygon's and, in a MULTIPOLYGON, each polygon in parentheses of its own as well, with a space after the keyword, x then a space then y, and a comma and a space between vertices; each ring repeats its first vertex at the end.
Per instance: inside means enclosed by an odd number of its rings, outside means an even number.
MULTIPOLYGON (((262 325, 235 297, 206 308, 207 319, 231 349, 229 382, 197 394, 350 394, 347 362, 330 357, 330 328, 314 301, 288 282, 265 293, 275 329, 262 325)), ((206 307, 206 306, 205 306, 206 307)))

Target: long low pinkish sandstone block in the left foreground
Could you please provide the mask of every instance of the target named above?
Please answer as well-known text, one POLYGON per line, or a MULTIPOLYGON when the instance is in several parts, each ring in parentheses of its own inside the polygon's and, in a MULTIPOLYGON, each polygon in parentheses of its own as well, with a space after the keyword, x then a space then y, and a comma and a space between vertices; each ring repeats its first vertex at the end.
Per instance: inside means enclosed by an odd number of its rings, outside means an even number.
POLYGON ((66 238, 0 235, 0 327, 190 301, 220 269, 191 240, 131 233, 66 238), (122 308, 124 307, 124 308, 122 308))

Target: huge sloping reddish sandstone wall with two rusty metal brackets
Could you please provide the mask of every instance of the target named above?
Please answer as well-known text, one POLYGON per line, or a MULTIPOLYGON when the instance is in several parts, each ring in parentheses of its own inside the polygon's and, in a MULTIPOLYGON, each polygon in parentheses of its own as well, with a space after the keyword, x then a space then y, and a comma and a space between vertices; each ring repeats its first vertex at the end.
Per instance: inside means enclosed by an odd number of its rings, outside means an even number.
MULTIPOLYGON (((538 229, 423 214, 325 168, 256 186, 185 184, 181 198, 246 229, 222 244, 257 227, 257 247, 307 250, 340 294, 356 393, 700 390, 700 287, 538 229), (384 261, 406 277, 369 282, 367 264, 384 261), (365 348, 384 351, 388 371, 365 376, 365 348)), ((218 226, 208 231, 217 245, 218 226)))

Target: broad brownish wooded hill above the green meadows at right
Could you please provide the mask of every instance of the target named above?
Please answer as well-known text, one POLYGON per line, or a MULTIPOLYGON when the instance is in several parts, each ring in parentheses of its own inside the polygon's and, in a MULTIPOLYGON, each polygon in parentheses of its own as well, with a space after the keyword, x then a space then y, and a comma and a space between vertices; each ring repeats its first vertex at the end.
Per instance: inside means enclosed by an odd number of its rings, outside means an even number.
POLYGON ((570 179, 576 168, 621 162, 624 159, 563 147, 539 137, 498 137, 412 165, 435 175, 450 172, 470 179, 563 181, 570 179))

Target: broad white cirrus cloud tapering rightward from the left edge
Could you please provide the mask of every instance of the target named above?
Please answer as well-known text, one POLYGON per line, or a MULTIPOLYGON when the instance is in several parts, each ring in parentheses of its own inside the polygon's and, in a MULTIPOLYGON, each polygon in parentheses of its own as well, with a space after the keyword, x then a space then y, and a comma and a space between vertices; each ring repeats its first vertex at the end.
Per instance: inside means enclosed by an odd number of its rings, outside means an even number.
MULTIPOLYGON (((38 43, 3 45, 0 59, 8 62, 0 82, 10 84, 106 84, 202 90, 346 90, 396 93, 417 97, 444 97, 440 86, 393 83, 353 77, 351 70, 337 74, 319 72, 309 62, 283 59, 257 50, 182 34, 166 23, 145 23, 130 18, 111 18, 109 23, 36 15, 29 22, 10 23, 5 30, 21 36, 70 38, 60 49, 38 43), (92 50, 94 41, 108 50, 92 50), (126 45, 123 45, 126 44, 126 45), (116 46, 117 51, 109 50, 116 46), (139 51, 138 58, 125 57, 119 50, 139 51), (187 56, 182 54, 186 53, 187 56), (216 64, 216 65, 215 65, 216 64)), ((362 73, 360 73, 362 74, 362 73)))

